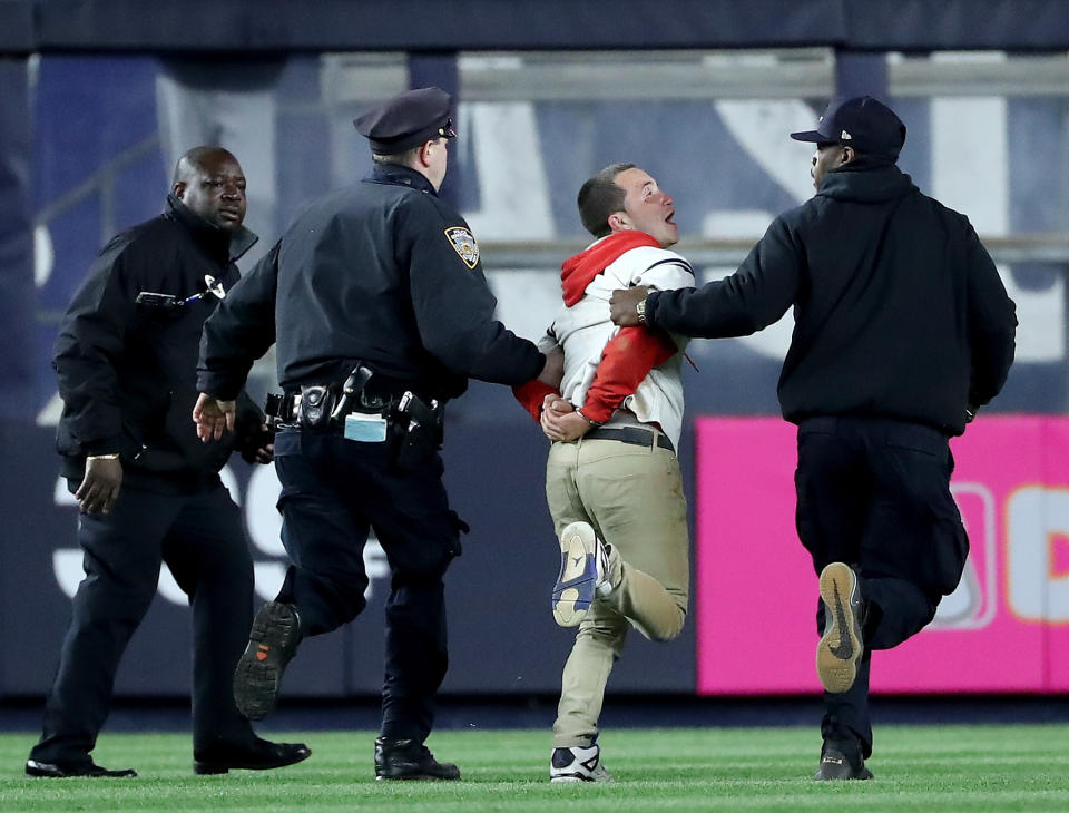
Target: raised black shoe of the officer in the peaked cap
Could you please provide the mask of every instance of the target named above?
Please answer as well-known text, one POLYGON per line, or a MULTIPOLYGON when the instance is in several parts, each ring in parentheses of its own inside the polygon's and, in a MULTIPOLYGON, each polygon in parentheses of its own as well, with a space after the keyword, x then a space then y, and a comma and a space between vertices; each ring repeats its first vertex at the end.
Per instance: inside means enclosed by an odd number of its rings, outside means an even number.
POLYGON ((234 702, 248 719, 263 719, 274 711, 282 675, 300 643, 301 617, 292 604, 268 601, 256 614, 234 670, 234 702))

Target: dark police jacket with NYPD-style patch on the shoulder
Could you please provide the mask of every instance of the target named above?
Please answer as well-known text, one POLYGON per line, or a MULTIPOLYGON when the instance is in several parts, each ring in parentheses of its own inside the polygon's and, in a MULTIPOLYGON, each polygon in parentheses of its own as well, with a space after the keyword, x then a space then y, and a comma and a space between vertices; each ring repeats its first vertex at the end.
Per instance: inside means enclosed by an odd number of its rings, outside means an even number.
POLYGON ((523 383, 543 357, 496 305, 463 218, 420 173, 376 166, 313 204, 226 297, 205 324, 198 388, 233 396, 276 337, 291 392, 357 361, 441 401, 469 378, 523 383))

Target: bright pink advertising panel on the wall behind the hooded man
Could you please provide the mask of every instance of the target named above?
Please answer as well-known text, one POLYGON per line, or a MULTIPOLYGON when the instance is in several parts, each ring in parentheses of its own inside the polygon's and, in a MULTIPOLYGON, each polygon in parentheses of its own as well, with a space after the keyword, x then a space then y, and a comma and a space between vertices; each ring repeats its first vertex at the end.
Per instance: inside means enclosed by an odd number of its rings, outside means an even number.
MULTIPOLYGON (((696 423, 699 694, 818 692, 816 574, 794 529, 795 427, 696 423)), ((889 693, 1069 689, 1069 419, 981 415, 951 441, 969 531, 935 620, 873 654, 889 693)))

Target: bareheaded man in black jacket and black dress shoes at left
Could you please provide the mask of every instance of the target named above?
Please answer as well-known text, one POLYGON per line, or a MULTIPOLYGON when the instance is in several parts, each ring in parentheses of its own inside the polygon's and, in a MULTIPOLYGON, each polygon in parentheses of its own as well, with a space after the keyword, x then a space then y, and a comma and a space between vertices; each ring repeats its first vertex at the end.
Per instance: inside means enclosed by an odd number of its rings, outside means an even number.
POLYGON ((235 445, 271 460, 263 414, 243 393, 236 434, 209 445, 187 418, 200 327, 237 282, 234 261, 256 241, 244 217, 237 159, 218 147, 190 149, 165 213, 112 238, 67 308, 52 362, 63 400, 57 447, 81 509, 86 578, 26 763, 30 776, 134 775, 89 754, 160 561, 193 606, 196 773, 279 767, 310 753, 256 737, 231 693, 253 616, 253 561, 218 471, 235 445))

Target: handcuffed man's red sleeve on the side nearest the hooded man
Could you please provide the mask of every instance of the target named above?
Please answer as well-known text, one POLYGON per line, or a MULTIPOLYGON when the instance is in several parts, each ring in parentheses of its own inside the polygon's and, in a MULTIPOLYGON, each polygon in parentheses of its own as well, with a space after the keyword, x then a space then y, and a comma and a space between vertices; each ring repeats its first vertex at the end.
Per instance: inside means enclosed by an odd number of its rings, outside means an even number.
POLYGON ((596 423, 612 417, 624 399, 635 393, 649 371, 678 352, 664 331, 625 327, 605 345, 594 383, 587 390, 582 414, 596 423))

